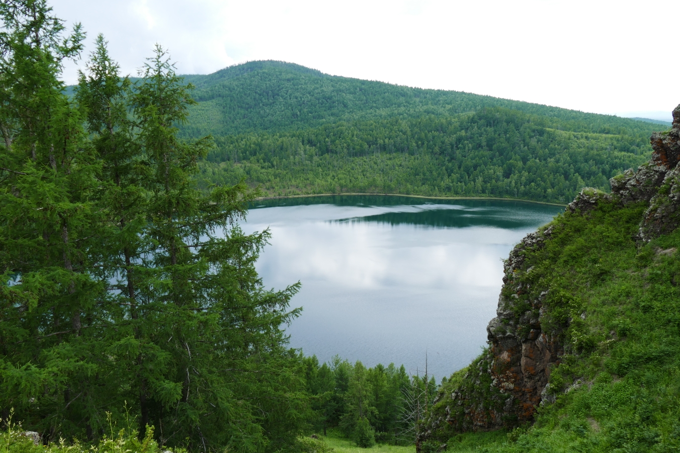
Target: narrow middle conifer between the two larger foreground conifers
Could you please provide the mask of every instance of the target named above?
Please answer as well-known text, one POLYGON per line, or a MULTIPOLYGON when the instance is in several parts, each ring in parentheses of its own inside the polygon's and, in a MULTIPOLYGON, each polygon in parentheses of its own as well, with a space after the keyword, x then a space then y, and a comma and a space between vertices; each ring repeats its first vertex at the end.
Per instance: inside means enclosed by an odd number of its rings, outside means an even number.
MULTIPOLYGON (((101 307, 109 328, 101 332, 101 340, 109 345, 109 357, 115 360, 105 362, 109 365, 107 376, 114 385, 137 388, 143 347, 137 325, 137 288, 141 285, 137 280, 143 280, 146 274, 142 257, 151 247, 143 234, 147 197, 140 181, 145 171, 134 122, 129 117, 131 83, 127 77, 120 77, 106 45, 99 35, 86 72, 80 72, 75 99, 86 113, 86 130, 101 164, 96 196, 109 225, 107 236, 100 238, 101 266, 93 272, 109 287, 107 303, 101 307)), ((108 403, 101 407, 120 419, 126 402, 136 407, 135 396, 107 393, 108 403)), ((146 423, 141 424, 142 438, 145 429, 146 423)))

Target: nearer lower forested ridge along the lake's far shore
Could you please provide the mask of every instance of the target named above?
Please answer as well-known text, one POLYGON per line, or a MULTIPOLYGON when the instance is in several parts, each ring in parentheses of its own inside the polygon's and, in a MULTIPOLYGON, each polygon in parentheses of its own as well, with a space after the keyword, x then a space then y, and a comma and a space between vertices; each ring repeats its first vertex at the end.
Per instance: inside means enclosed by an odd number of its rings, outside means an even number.
MULTIPOLYGON (((583 127, 583 129, 587 129, 583 127)), ((201 179, 261 184, 269 195, 401 193, 566 203, 649 155, 648 138, 564 128, 488 107, 456 116, 375 118, 216 138, 201 179)))

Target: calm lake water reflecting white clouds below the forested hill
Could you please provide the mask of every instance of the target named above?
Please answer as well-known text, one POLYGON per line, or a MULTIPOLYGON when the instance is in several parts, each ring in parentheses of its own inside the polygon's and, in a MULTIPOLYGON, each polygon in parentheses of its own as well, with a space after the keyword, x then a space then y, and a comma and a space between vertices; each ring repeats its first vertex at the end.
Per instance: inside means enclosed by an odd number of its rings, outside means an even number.
POLYGON ((301 281, 290 344, 330 361, 402 363, 437 380, 486 344, 503 263, 560 206, 496 200, 324 196, 254 204, 245 232, 271 230, 267 287, 301 281))

